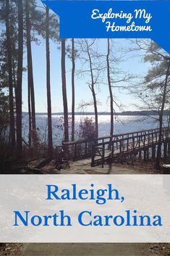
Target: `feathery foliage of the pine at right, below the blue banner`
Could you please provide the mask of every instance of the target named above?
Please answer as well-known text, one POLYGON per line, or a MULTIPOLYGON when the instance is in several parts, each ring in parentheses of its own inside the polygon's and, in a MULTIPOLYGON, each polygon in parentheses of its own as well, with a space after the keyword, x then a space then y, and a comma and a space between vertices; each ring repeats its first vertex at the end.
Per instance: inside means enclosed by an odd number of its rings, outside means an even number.
MULTIPOLYGON (((169 67, 169 54, 163 51, 153 41, 145 49, 144 62, 150 62, 151 67, 140 86, 140 99, 147 109, 160 110, 163 99, 163 88, 166 86, 165 108, 169 108, 169 78, 166 83, 166 73, 169 67)), ((169 77, 170 73, 168 74, 169 77)))

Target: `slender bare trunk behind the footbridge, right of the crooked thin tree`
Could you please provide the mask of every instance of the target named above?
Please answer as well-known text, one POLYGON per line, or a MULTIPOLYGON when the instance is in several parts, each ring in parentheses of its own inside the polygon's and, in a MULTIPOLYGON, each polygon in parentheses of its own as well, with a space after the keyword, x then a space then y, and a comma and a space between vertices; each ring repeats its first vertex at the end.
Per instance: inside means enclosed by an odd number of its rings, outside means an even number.
POLYGON ((111 75, 110 75, 110 62, 109 62, 109 55, 110 55, 110 41, 109 38, 107 39, 107 48, 108 52, 106 55, 106 62, 107 62, 107 79, 108 79, 108 86, 109 86, 109 94, 110 94, 110 107, 111 107, 111 131, 110 136, 114 135, 114 98, 113 92, 111 88, 111 75))

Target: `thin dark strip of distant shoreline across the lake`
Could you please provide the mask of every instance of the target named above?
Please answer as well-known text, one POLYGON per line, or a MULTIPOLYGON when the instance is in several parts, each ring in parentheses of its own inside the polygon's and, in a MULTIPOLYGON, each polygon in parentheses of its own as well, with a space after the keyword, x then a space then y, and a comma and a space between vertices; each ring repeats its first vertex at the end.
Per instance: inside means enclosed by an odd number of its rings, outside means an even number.
MULTIPOLYGON (((22 112, 22 115, 28 115, 28 112, 22 112)), ((46 112, 37 112, 36 115, 47 115, 46 112)), ((52 113, 52 116, 54 115, 64 115, 63 112, 54 112, 52 113)), ((68 115, 72 115, 72 112, 69 112, 68 115)), ((75 115, 95 115, 94 112, 75 112, 75 115)), ((98 115, 110 115, 110 112, 98 112, 98 115)), ((117 112, 115 115, 158 115, 158 111, 124 111, 124 112, 117 112)), ((163 115, 169 115, 169 110, 165 110, 163 112, 163 115)))

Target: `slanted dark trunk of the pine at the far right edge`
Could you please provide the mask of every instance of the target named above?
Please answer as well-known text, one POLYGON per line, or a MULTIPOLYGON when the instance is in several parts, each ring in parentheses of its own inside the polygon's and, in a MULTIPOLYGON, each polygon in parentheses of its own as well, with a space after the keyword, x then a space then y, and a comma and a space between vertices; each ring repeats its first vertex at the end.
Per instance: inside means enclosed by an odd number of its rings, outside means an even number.
POLYGON ((164 83, 164 86, 163 86, 162 104, 161 104, 161 110, 159 112, 159 135, 158 135, 158 149, 157 149, 157 155, 156 155, 156 169, 160 168, 160 162, 161 162, 163 110, 164 110, 165 102, 166 102, 166 88, 167 88, 167 85, 168 85, 169 70, 170 70, 170 60, 169 60, 169 65, 168 65, 167 70, 166 70, 166 78, 165 78, 165 83, 164 83))

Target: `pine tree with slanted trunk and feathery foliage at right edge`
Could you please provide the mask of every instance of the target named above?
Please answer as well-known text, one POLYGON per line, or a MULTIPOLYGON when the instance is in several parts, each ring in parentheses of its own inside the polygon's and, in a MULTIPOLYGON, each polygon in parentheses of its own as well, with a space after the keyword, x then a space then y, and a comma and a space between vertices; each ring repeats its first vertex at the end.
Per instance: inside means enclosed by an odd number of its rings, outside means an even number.
POLYGON ((169 109, 170 93, 170 57, 160 46, 150 40, 136 40, 135 51, 143 52, 144 62, 151 64, 144 79, 135 86, 135 93, 141 102, 143 109, 158 112, 158 148, 156 155, 156 168, 160 168, 161 141, 163 128, 163 112, 169 109))

